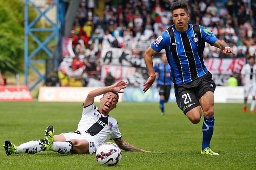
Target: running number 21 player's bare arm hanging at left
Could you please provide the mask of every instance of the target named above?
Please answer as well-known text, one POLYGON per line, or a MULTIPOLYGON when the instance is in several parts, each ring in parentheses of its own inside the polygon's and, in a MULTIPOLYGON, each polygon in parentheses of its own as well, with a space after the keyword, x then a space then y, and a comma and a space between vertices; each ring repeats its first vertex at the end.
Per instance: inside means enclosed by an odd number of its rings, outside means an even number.
POLYGON ((150 88, 150 86, 152 86, 152 84, 154 83, 155 79, 156 79, 156 73, 154 71, 154 66, 153 66, 153 61, 152 61, 152 56, 156 55, 157 52, 154 51, 154 49, 152 49, 152 47, 149 47, 143 57, 146 63, 146 67, 148 69, 148 74, 149 74, 149 78, 147 80, 147 82, 145 84, 143 84, 142 86, 144 93, 150 88))

